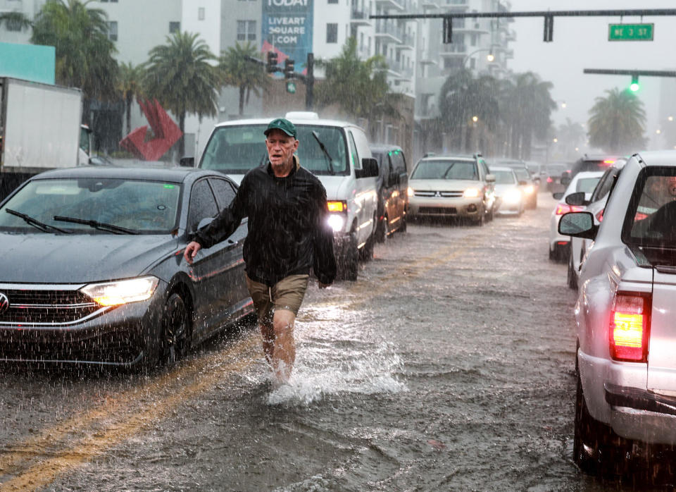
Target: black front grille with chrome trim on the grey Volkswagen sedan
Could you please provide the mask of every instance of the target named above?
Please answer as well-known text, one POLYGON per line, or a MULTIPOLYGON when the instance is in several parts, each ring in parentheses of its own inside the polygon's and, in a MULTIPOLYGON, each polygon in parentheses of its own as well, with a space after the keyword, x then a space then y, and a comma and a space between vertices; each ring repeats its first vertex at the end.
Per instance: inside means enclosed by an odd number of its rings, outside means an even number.
MULTIPOLYGON (((90 297, 78 290, 45 289, 39 285, 0 285, 0 293, 9 302, 0 312, 0 324, 63 325, 73 324, 96 312, 103 312, 90 297)), ((0 296, 1 300, 1 296, 0 296)))

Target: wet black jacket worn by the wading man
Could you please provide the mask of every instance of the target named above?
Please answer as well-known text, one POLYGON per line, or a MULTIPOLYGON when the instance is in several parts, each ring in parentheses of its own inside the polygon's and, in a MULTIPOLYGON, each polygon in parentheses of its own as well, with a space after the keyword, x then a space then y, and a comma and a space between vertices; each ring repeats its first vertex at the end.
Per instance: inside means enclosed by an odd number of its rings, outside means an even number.
POLYGON ((277 178, 270 163, 251 169, 227 209, 196 235, 201 247, 225 240, 244 217, 246 274, 270 287, 289 275, 313 269, 321 283, 336 276, 333 232, 327 224, 326 190, 294 156, 289 176, 277 178))

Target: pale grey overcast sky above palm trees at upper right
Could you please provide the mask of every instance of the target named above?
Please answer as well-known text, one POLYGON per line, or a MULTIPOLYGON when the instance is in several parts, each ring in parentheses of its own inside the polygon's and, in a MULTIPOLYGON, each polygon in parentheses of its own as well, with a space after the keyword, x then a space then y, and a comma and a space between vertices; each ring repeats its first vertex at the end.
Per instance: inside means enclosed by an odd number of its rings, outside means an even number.
MULTIPOLYGON (((513 12, 608 10, 618 8, 676 8, 676 0, 511 0, 513 12)), ((543 18, 517 18, 511 24, 517 35, 511 43, 514 59, 510 68, 515 73, 532 70, 542 79, 553 82, 553 98, 565 109, 554 115, 556 125, 568 116, 572 121, 586 123, 594 99, 613 87, 627 87, 629 75, 587 75, 584 68, 620 68, 644 70, 676 70, 676 17, 646 17, 644 23, 654 23, 654 40, 608 41, 608 24, 639 23, 639 17, 556 17, 553 42, 543 42, 543 18)), ((664 111, 659 111, 661 92, 667 100, 676 100, 676 79, 640 78, 638 93, 648 113, 646 135, 651 147, 663 146, 656 129, 665 124, 664 111)), ((676 108, 675 108, 676 116, 676 108)))

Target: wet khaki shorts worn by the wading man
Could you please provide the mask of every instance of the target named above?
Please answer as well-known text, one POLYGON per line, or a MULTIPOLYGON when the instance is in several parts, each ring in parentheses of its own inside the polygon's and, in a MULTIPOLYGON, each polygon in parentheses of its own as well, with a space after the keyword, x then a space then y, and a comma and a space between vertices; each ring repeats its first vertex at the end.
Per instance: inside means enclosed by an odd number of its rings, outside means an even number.
POLYGON ((258 321, 272 322, 275 309, 286 309, 292 311, 294 315, 298 314, 305 291, 308 289, 309 275, 289 275, 272 287, 251 280, 246 273, 244 276, 253 307, 258 314, 258 321))

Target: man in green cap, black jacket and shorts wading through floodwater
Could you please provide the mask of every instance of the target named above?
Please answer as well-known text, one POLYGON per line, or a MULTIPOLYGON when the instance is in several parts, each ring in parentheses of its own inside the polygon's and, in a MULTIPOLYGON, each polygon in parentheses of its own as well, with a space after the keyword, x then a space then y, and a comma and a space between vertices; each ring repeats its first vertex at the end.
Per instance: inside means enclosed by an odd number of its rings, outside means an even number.
POLYGON ((296 127, 284 118, 265 130, 268 162, 246 173, 227 209, 200 230, 183 254, 192 260, 202 247, 227 239, 244 217, 246 286, 258 314, 265 359, 276 383, 288 383, 294 361, 294 321, 311 269, 319 288, 336 276, 333 233, 327 224, 326 190, 300 166, 296 127))

